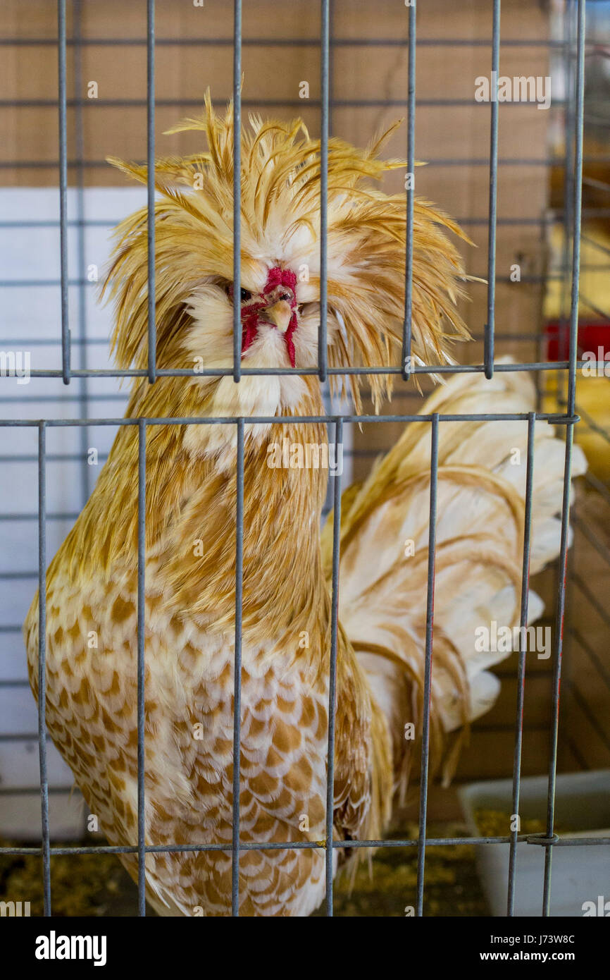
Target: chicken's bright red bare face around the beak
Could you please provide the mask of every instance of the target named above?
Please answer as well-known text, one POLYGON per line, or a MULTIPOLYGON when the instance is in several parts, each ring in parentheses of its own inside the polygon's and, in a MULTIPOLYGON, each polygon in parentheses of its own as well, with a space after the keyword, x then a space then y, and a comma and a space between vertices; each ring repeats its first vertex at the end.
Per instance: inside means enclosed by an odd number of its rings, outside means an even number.
POLYGON ((284 337, 288 358, 295 367, 293 334, 297 329, 297 276, 289 269, 270 269, 262 292, 253 296, 242 289, 242 356, 254 343, 258 325, 268 323, 284 337))

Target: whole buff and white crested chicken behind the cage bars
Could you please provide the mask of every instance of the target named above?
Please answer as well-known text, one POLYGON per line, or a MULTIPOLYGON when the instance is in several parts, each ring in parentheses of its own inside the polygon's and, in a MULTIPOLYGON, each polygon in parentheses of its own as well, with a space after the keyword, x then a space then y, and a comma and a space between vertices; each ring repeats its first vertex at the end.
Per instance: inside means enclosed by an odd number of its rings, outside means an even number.
MULTIPOLYGON (((220 118, 209 96, 206 103, 202 120, 187 120, 176 130, 203 129, 208 151, 156 166, 158 368, 231 368, 235 302, 241 307, 245 368, 314 368, 319 142, 309 138, 299 120, 284 124, 253 119, 252 131, 243 133, 238 298, 232 286, 232 109, 220 118)), ((399 352, 404 198, 383 194, 366 178, 378 178, 403 162, 379 160, 382 142, 360 151, 341 140, 330 141, 331 367, 379 368, 396 363, 399 352)), ((116 163, 146 181, 145 168, 116 163)), ((144 368, 147 363, 146 217, 142 209, 119 226, 109 274, 119 368, 144 368)), ((448 362, 449 335, 467 337, 455 309, 464 271, 447 229, 461 235, 430 203, 415 202, 413 354, 433 365, 448 362)), ((350 375, 347 384, 358 411, 359 377, 350 375)), ((373 374, 369 381, 379 407, 390 394, 388 375, 373 374)), ((461 392, 468 403, 471 388, 473 400, 480 398, 497 410, 494 399, 502 396, 497 382, 493 388, 479 378, 450 382, 446 398, 461 392)), ((507 389, 505 398, 511 397, 507 389)), ((522 398, 515 389, 511 404, 521 404, 522 398)), ((195 373, 159 376, 152 385, 137 376, 126 411, 129 418, 246 418, 239 809, 240 838, 251 845, 319 842, 325 837, 331 600, 319 521, 327 473, 320 466, 268 465, 269 447, 284 439, 304 448, 327 445, 323 422, 300 422, 300 416, 323 416, 315 373, 244 375, 239 383, 230 375, 195 373), (295 421, 249 420, 276 416, 295 421)), ((456 459, 462 452, 470 464, 468 426, 450 430, 450 437, 445 431, 443 465, 458 438, 463 447, 454 447, 456 459)), ((377 533, 377 517, 385 515, 386 492, 406 515, 392 516, 397 530, 412 519, 412 508, 419 511, 419 498, 426 493, 427 477, 421 475, 426 452, 425 439, 417 440, 407 430, 371 481, 356 496, 352 491, 351 506, 346 502, 342 572, 348 586, 342 584, 345 623, 340 623, 337 638, 333 787, 338 841, 382 835, 400 781, 397 773, 405 768, 396 726, 412 720, 408 712, 405 718, 400 714, 403 700, 418 696, 422 609, 419 592, 415 586, 410 590, 409 569, 421 582, 421 558, 418 552, 412 564, 392 566, 397 588, 404 587, 404 592, 392 597, 389 622, 396 618, 405 642, 393 643, 386 629, 384 649, 378 651, 371 637, 377 629, 383 632, 384 608, 373 592, 381 595, 385 583, 378 574, 377 546, 370 553, 364 549, 377 533), (403 473, 410 467, 419 475, 410 481, 407 476, 405 482, 403 473), (356 564, 366 568, 358 572, 356 564), (358 594, 375 602, 361 634, 358 594), (411 608, 414 600, 417 607, 411 608)), ((147 898, 164 915, 231 911, 236 457, 235 424, 147 425, 146 844, 223 848, 147 854, 147 898)), ((479 528, 481 515, 493 522, 485 540, 480 530, 477 544, 481 554, 486 540, 489 553, 504 546, 508 553, 495 564, 491 554, 470 564, 472 592, 462 583, 462 594, 472 616, 480 588, 481 602, 492 603, 502 575, 511 586, 516 584, 509 572, 517 561, 518 535, 509 528, 502 537, 495 523, 506 520, 505 502, 516 514, 521 498, 511 489, 501 460, 496 455, 475 467, 477 481, 489 491, 476 518, 479 528), (497 473, 491 473, 492 465, 497 473), (488 475, 483 478, 482 473, 488 475)), ((123 425, 87 505, 49 566, 46 597, 49 732, 99 829, 112 844, 123 846, 137 843, 137 479, 138 427, 123 425)), ((455 508, 479 498, 473 486, 468 487, 470 497, 466 487, 460 497, 450 470, 445 479, 447 513, 441 514, 440 542, 446 539, 449 549, 451 520, 458 519, 466 539, 470 533, 469 518, 455 515, 455 508)), ((548 507, 552 511, 554 504, 548 507)), ((517 524, 515 519, 515 528, 517 524)), ((411 534, 417 542, 424 525, 417 516, 411 534)), ((391 550, 388 546, 390 563, 391 550)), ((443 547, 440 558, 445 561, 443 547)), ((466 559, 460 561, 463 566, 466 559)), ((449 579, 450 570, 447 588, 449 579)), ((449 624, 450 596, 444 602, 449 624)), ((37 698, 37 598, 24 637, 37 698)), ((442 694, 435 699, 435 716, 462 720, 468 711, 460 706, 466 703, 471 677, 472 697, 481 697, 477 671, 471 669, 468 649, 451 657, 448 643, 445 635, 438 641, 435 636, 435 651, 438 645, 446 671, 436 677, 442 694)), ((335 868, 346 860, 346 851, 335 849, 335 868)), ((136 857, 121 859, 136 877, 136 857)), ((324 869, 319 848, 242 851, 239 913, 308 914, 324 896, 324 869)))

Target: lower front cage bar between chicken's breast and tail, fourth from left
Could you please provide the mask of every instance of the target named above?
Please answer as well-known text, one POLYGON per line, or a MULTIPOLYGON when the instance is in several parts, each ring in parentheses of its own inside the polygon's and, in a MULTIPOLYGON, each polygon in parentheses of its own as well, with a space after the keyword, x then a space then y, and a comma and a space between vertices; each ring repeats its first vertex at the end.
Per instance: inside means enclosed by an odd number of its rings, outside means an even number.
MULTIPOLYGON (((343 418, 335 422, 335 452, 343 445, 343 418)), ((333 486, 333 578, 330 619, 330 668, 328 680, 328 753, 326 763, 326 914, 333 911, 333 817, 335 806, 335 714, 337 711, 337 627, 339 621, 339 559, 341 542, 341 476, 333 486)))

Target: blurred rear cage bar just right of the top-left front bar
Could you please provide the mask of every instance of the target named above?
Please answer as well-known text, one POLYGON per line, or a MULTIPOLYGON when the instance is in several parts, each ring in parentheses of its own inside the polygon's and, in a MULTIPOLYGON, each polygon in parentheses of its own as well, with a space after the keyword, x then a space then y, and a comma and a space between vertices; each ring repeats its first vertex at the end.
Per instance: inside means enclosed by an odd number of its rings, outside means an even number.
MULTIPOLYGON (((74 73, 74 121, 76 143, 76 239, 78 250, 78 367, 87 368, 87 296, 84 285, 86 276, 85 262, 85 203, 84 203, 84 133, 82 124, 82 3, 73 0, 72 13, 72 64, 74 73)), ((79 411, 81 418, 89 417, 89 379, 78 378, 79 411)), ((80 494, 82 506, 89 499, 89 475, 91 467, 87 464, 87 448, 89 429, 81 426, 78 431, 80 443, 80 494)))

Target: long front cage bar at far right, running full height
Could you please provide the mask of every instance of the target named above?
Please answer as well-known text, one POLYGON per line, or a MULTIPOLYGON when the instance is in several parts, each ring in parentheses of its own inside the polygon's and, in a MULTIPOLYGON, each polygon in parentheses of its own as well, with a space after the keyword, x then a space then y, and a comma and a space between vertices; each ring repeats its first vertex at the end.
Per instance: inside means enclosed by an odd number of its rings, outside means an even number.
MULTIPOLYGON (((583 211, 583 130, 585 122, 585 0, 578 0, 577 13, 577 73, 574 156, 574 246, 572 250, 572 303, 570 309, 570 357, 568 368, 568 413, 574 416, 576 406, 576 364, 579 325, 579 279, 581 272, 581 221, 583 211)), ((563 500, 561 507, 561 545, 559 549, 559 590, 555 619, 556 649, 553 664, 553 705, 550 735, 550 759, 548 764, 548 796, 546 801, 546 838, 554 833, 555 782, 557 775, 557 744, 559 735, 559 688, 561 684, 561 659, 563 653, 563 620, 566 599, 566 570, 568 563, 568 530, 570 524, 570 488, 572 480, 572 444, 574 423, 566 426, 566 458, 563 473, 563 500)), ((552 844, 544 849, 544 889, 542 915, 550 915, 550 877, 552 844)))

